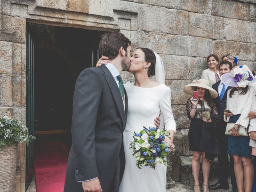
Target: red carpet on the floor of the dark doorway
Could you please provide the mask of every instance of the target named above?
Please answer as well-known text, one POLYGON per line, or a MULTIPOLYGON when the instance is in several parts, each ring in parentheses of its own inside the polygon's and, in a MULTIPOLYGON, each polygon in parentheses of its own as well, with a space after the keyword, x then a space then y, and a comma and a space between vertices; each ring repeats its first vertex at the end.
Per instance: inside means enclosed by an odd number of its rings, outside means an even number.
POLYGON ((61 142, 40 142, 34 159, 36 192, 63 192, 68 148, 61 142))

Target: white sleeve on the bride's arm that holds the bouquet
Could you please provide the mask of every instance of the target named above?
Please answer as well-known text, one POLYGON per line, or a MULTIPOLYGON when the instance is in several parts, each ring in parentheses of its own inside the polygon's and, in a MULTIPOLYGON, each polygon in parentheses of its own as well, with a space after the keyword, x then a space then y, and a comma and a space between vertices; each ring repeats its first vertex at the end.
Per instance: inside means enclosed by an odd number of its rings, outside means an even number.
POLYGON ((160 100, 160 110, 166 130, 174 130, 176 132, 176 122, 173 118, 171 108, 171 90, 168 87, 164 90, 162 99, 160 100))

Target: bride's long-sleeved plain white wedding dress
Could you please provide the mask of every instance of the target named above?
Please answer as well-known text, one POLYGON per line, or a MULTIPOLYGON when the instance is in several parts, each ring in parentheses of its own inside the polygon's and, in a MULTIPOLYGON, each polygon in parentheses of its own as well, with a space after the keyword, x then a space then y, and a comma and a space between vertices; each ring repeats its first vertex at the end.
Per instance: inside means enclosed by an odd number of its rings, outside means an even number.
POLYGON ((176 131, 170 100, 170 88, 164 84, 153 88, 142 88, 131 84, 124 84, 128 95, 128 116, 124 130, 124 152, 126 165, 119 192, 165 192, 166 166, 152 169, 136 166, 136 158, 132 156, 130 142, 134 132, 140 132, 143 126, 154 127, 154 119, 163 116, 167 130, 176 131))

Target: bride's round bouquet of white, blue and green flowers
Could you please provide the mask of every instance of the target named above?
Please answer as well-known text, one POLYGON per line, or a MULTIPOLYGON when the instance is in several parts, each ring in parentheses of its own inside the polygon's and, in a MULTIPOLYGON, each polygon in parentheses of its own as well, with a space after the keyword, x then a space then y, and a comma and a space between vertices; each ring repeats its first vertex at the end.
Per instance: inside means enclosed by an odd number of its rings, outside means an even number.
MULTIPOLYGON (((169 152, 169 147, 165 144, 164 138, 169 135, 165 129, 160 130, 158 127, 143 127, 140 133, 134 132, 132 138, 134 141, 130 143, 133 150, 133 156, 137 158, 136 165, 139 169, 142 166, 149 166, 155 169, 164 163, 167 165, 166 156, 169 152)), ((175 150, 171 151, 174 154, 175 150)))

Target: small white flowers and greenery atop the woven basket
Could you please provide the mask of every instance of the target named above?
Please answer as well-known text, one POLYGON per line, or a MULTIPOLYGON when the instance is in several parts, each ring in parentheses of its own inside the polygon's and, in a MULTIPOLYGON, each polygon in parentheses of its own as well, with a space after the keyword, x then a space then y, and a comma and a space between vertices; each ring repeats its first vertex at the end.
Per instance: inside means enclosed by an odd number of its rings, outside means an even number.
POLYGON ((0 114, 0 149, 14 142, 26 142, 28 145, 35 138, 18 120, 0 114))

